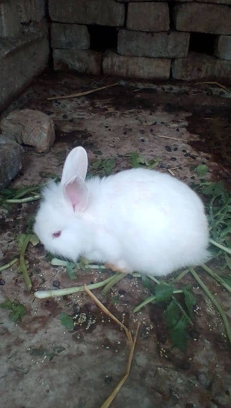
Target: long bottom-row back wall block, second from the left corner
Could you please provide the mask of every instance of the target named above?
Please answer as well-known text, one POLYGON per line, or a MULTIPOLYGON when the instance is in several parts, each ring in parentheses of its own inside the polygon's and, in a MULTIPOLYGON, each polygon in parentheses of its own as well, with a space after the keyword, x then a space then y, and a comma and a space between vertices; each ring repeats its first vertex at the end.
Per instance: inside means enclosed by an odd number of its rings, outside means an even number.
POLYGON ((167 80, 170 74, 170 59, 123 57, 113 52, 105 54, 102 70, 105 75, 124 78, 167 80))

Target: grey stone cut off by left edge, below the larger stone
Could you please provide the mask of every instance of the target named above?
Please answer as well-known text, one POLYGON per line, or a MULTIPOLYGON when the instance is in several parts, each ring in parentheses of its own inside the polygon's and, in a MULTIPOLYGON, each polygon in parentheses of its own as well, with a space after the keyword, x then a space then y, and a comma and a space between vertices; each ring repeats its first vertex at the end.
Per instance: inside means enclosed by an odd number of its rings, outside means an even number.
POLYGON ((20 144, 0 134, 0 188, 6 187, 21 169, 22 152, 20 144))

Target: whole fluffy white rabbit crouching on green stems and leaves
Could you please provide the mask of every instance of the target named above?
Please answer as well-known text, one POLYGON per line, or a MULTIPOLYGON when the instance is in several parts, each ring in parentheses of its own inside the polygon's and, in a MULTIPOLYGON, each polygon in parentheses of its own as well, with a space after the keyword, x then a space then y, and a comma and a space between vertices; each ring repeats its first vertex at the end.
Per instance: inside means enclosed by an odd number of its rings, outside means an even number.
POLYGON ((85 149, 75 147, 61 183, 43 191, 34 231, 48 251, 153 275, 208 259, 207 218, 186 184, 143 168, 85 181, 87 166, 85 149))

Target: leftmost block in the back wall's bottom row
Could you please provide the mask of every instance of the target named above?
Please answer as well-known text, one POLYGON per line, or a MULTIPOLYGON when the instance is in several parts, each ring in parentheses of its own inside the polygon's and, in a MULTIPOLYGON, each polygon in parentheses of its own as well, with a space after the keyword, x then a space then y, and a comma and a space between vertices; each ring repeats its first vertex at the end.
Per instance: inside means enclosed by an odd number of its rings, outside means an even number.
POLYGON ((54 49, 53 59, 55 70, 74 69, 93 75, 101 73, 102 55, 92 49, 54 49))

